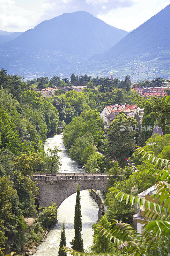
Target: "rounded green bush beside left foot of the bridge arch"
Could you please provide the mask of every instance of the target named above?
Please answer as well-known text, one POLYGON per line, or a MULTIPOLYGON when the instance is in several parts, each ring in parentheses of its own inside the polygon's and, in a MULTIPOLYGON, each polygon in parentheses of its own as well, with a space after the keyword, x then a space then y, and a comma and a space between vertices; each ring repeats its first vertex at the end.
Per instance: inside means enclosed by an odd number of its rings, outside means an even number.
POLYGON ((38 220, 42 222, 44 228, 49 228, 56 223, 57 220, 57 206, 52 203, 51 206, 46 208, 40 207, 40 214, 38 220))

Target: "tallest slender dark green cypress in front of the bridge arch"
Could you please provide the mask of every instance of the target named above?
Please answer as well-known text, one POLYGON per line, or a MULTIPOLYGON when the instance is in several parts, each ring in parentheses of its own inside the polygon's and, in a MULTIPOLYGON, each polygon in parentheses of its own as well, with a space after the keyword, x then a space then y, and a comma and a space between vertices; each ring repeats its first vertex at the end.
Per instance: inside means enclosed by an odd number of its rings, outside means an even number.
POLYGON ((73 249, 78 252, 84 252, 83 239, 81 237, 82 231, 82 221, 81 221, 81 205, 80 205, 80 187, 77 186, 77 196, 75 204, 75 214, 74 214, 74 230, 75 236, 72 240, 73 249))

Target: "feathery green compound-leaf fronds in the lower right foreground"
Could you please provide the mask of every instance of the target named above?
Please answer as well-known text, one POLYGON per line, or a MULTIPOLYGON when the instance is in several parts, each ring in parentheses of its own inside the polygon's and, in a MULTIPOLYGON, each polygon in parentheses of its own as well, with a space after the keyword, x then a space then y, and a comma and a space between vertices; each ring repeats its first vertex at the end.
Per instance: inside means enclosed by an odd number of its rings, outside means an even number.
MULTIPOLYGON (((170 169, 168 164, 170 161, 153 156, 142 148, 138 148, 138 150, 143 157, 146 156, 148 160, 151 158, 152 163, 154 161, 156 161, 156 164, 160 162, 163 167, 149 170, 150 174, 155 175, 157 180, 155 193, 146 200, 145 198, 123 193, 117 188, 111 188, 110 192, 120 202, 124 201, 125 204, 135 205, 137 209, 140 206, 143 207, 145 218, 142 235, 134 230, 131 225, 118 220, 113 220, 111 232, 101 225, 98 228, 101 231, 101 235, 109 238, 114 245, 117 245, 117 249, 124 250, 126 255, 169 255, 170 169)), ((65 248, 65 250, 70 251, 71 254, 80 255, 80 253, 73 252, 68 248, 65 248)))

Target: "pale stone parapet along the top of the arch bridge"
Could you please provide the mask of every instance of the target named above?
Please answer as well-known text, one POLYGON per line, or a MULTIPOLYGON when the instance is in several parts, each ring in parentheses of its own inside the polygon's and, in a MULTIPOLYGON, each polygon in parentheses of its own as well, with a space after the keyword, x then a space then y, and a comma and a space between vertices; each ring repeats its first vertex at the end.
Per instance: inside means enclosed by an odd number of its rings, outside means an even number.
POLYGON ((45 180, 45 181, 62 181, 62 180, 108 180, 107 173, 34 173, 33 180, 45 180))

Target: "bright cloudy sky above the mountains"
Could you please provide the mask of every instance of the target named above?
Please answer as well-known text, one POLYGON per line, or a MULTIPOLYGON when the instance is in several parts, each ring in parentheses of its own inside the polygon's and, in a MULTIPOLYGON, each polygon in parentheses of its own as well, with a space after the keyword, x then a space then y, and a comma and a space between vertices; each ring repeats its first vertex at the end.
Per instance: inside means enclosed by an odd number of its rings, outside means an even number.
POLYGON ((170 0, 0 0, 0 30, 26 31, 65 12, 86 11, 131 31, 170 4, 170 0))

